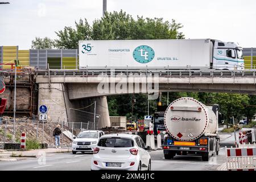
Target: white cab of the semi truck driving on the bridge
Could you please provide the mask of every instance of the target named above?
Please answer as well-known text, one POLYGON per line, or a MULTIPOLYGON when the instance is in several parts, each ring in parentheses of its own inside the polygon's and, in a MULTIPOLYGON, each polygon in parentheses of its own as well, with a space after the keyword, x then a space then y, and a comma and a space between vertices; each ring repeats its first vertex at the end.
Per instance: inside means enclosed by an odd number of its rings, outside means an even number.
POLYGON ((213 69, 241 70, 244 68, 242 47, 233 42, 211 40, 213 43, 213 69))

